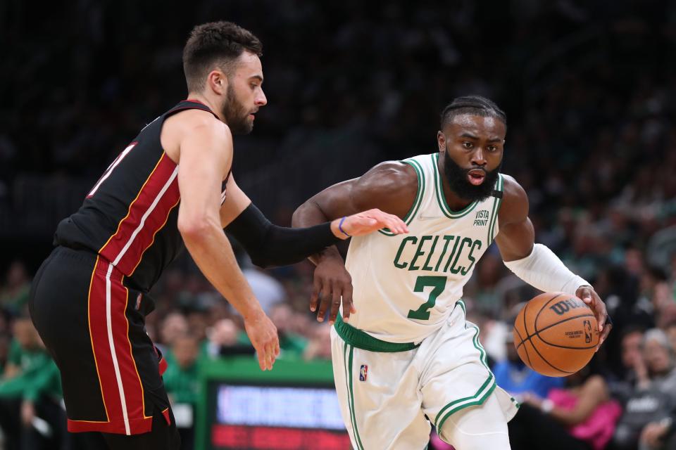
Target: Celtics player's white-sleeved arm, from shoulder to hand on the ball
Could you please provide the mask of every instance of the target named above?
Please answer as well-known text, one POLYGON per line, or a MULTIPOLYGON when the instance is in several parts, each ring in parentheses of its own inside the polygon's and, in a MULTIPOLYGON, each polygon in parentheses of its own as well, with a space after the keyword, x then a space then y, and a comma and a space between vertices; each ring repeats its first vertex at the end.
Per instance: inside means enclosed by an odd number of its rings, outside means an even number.
POLYGON ((511 176, 505 176, 498 220, 495 242, 508 269, 534 288, 576 295, 589 304, 599 323, 600 347, 613 328, 608 321, 606 304, 584 278, 568 270, 545 245, 535 243, 533 224, 528 218, 528 196, 511 176))

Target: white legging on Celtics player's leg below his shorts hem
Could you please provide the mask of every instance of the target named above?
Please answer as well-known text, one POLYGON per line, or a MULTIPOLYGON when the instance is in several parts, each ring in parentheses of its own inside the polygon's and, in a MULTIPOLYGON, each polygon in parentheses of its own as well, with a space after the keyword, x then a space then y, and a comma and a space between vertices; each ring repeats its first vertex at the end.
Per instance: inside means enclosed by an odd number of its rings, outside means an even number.
POLYGON ((458 450, 508 450, 507 420, 495 394, 444 421, 439 437, 458 450))

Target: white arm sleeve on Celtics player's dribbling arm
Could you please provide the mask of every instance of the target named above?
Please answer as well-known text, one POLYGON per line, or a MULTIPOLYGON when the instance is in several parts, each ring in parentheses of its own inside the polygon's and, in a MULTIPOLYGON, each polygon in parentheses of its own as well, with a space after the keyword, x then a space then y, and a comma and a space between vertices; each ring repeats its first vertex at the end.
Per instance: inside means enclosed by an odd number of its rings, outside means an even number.
POLYGON ((546 245, 535 244, 533 251, 516 261, 503 261, 507 268, 526 283, 546 293, 561 292, 575 295, 577 288, 589 285, 573 274, 546 245))

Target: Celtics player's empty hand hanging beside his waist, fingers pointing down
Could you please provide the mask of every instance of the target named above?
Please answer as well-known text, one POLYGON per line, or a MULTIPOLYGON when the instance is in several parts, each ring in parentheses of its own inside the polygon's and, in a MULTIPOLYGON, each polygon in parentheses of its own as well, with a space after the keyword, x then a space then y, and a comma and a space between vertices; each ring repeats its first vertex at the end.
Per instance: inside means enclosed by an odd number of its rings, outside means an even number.
POLYGON ((335 253, 332 257, 322 259, 315 267, 310 297, 310 310, 317 311, 317 303, 321 296, 317 320, 323 322, 326 311, 329 309, 329 323, 331 324, 336 321, 341 300, 344 321, 349 321, 350 314, 356 312, 352 303, 352 278, 345 269, 342 257, 337 251, 335 253))

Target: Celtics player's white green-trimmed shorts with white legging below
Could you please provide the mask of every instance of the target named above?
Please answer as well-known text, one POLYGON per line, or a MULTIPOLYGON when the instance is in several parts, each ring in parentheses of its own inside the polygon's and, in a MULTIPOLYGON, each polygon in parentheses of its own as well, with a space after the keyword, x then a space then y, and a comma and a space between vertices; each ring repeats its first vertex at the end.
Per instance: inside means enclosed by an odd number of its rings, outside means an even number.
POLYGON ((423 450, 432 425, 456 450, 509 449, 507 422, 518 404, 496 385, 462 301, 420 345, 377 340, 340 319, 331 341, 354 449, 423 450))

